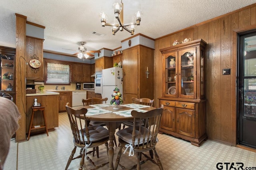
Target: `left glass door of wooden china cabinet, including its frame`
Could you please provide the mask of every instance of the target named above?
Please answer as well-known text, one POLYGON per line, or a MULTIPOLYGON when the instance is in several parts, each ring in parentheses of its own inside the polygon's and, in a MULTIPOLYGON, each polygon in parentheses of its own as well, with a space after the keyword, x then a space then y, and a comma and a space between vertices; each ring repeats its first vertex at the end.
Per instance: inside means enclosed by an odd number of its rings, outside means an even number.
POLYGON ((163 73, 165 75, 164 96, 178 97, 178 63, 176 63, 178 62, 177 54, 177 52, 173 52, 163 55, 165 58, 163 60, 165 65, 165 72, 163 73))

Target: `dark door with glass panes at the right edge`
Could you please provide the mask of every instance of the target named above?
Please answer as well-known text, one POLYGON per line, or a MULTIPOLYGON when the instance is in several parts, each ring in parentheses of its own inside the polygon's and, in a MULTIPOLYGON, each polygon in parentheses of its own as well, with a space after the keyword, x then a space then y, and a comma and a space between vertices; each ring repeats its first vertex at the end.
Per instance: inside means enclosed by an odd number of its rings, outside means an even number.
POLYGON ((256 148, 256 30, 238 42, 238 144, 256 148))

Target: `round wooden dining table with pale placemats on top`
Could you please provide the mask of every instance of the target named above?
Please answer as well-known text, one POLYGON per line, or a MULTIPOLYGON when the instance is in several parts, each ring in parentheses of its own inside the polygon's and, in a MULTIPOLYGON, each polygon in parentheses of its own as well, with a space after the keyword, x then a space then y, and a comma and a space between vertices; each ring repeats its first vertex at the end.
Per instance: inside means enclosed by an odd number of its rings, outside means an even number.
POLYGON ((104 122, 109 132, 109 149, 108 160, 109 169, 113 170, 113 158, 114 158, 114 138, 115 132, 120 127, 122 122, 132 121, 132 110, 139 112, 147 112, 156 107, 144 106, 140 104, 122 104, 119 105, 119 109, 114 109, 114 105, 111 104, 94 104, 89 106, 83 106, 87 109, 86 120, 87 121, 100 121, 104 122))

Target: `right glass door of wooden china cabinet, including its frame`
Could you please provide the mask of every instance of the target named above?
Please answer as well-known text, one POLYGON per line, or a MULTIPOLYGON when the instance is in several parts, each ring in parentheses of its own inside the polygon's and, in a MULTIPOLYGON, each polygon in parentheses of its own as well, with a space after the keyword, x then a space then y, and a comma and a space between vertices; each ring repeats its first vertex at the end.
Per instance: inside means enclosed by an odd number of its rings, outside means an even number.
POLYGON ((179 97, 195 98, 196 96, 196 48, 179 51, 179 97))

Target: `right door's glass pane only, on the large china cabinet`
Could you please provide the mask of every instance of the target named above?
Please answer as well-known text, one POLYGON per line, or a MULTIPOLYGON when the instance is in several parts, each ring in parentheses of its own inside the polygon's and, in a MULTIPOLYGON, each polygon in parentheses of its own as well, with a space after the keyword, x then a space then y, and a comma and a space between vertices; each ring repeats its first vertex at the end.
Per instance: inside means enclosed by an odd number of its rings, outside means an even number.
POLYGON ((181 94, 194 95, 194 54, 186 52, 181 56, 181 94))

